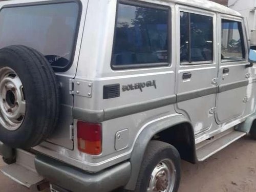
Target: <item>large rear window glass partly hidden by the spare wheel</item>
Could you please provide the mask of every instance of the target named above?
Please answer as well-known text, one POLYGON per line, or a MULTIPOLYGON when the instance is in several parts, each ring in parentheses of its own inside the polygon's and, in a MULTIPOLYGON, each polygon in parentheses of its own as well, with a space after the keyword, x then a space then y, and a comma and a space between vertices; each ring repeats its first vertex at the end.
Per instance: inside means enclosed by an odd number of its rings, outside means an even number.
POLYGON ((0 48, 25 45, 41 52, 52 66, 65 68, 72 59, 77 3, 4 8, 0 12, 0 48))

